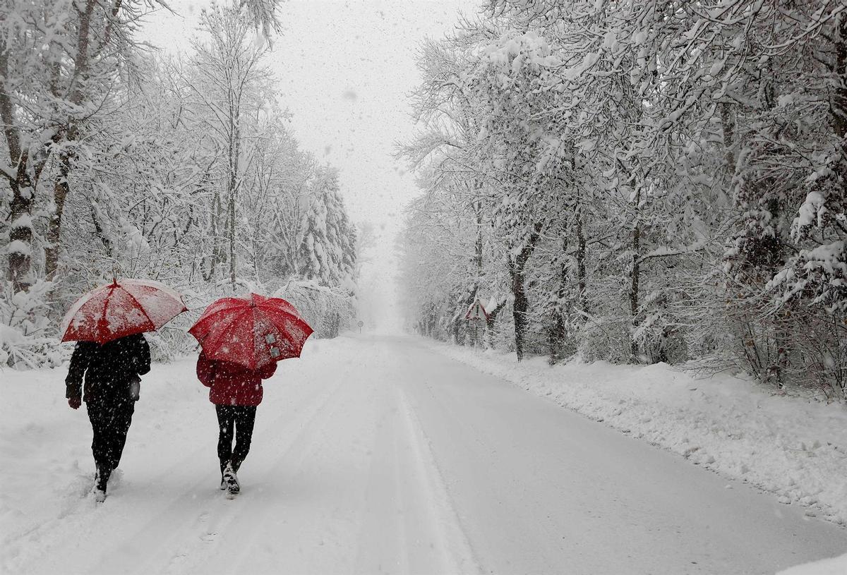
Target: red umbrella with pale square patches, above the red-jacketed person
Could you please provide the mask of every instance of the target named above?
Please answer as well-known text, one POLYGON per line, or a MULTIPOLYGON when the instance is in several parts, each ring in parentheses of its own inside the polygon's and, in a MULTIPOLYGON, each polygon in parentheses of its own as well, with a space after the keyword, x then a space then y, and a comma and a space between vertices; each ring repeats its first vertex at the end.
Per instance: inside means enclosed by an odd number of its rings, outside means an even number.
POLYGON ((257 369, 300 357, 312 328, 288 301, 249 294, 214 301, 188 333, 206 357, 257 369))

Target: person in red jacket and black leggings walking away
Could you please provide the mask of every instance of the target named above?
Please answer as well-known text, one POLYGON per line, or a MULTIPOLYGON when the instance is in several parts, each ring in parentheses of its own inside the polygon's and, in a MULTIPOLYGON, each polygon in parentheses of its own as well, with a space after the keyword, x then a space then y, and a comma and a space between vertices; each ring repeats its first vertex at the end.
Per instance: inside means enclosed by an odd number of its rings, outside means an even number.
POLYGON ((237 363, 197 357, 197 379, 209 389, 209 401, 218 413, 218 459, 220 489, 230 494, 241 491, 238 472, 241 462, 250 451, 256 406, 262 403, 262 380, 276 371, 276 363, 258 369, 245 368, 237 363), (235 449, 232 448, 235 434, 235 449))

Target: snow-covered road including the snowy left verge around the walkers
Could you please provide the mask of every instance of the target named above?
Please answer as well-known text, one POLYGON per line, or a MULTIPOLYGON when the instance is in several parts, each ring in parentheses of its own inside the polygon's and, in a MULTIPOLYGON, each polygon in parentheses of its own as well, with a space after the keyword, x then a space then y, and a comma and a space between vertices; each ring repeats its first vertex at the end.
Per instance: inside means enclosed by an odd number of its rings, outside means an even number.
POLYGON ((2 373, 3 573, 772 573, 847 550, 844 528, 387 337, 280 364, 236 500, 193 363, 155 366, 97 506, 63 377, 2 373))

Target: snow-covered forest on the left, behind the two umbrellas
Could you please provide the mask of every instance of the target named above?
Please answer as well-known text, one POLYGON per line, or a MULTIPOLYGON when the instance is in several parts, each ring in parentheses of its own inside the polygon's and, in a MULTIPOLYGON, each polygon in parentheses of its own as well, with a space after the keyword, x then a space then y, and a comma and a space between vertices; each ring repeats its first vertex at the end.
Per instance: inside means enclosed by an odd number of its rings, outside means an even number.
POLYGON ((355 312, 356 226, 338 170, 301 149, 267 58, 274 2, 204 9, 191 50, 138 40, 141 0, 9 0, 0 22, 0 365, 64 360, 58 320, 113 277, 296 304, 321 336, 355 312))

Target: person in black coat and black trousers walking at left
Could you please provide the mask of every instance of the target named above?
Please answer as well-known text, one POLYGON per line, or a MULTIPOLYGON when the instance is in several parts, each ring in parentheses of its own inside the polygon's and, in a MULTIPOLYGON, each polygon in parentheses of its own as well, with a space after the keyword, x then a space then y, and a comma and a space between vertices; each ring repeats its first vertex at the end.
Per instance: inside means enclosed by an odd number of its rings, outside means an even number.
POLYGON ((150 346, 142 334, 127 335, 103 345, 78 341, 70 358, 65 397, 74 409, 86 402, 94 432, 91 452, 97 465, 94 491, 98 501, 106 499, 108 478, 124 452, 138 401, 139 375, 149 371, 150 346))

